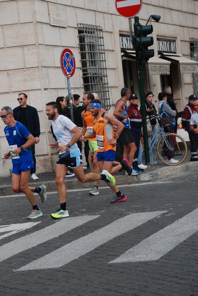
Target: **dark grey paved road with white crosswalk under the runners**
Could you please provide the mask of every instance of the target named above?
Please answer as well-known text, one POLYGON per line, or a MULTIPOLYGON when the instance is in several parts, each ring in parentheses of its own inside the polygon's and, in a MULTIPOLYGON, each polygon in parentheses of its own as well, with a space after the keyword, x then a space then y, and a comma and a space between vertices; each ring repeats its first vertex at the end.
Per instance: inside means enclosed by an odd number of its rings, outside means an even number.
POLYGON ((69 218, 52 220, 56 192, 30 214, 0 197, 0 296, 197 296, 198 169, 155 183, 68 192, 69 218))

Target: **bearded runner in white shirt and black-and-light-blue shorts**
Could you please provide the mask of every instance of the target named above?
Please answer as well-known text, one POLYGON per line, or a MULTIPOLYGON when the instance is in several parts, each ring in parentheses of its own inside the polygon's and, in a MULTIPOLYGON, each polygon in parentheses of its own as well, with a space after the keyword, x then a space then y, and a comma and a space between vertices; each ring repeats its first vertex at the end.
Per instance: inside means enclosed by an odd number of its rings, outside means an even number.
POLYGON ((57 139, 55 143, 51 143, 49 146, 52 149, 57 148, 59 152, 55 181, 60 201, 60 209, 57 210, 56 213, 52 213, 51 217, 55 219, 65 218, 69 216, 66 207, 67 190, 64 184, 64 178, 68 167, 73 170, 81 183, 103 180, 113 186, 115 184, 115 179, 107 170, 103 170, 101 175, 95 173, 85 175, 80 163, 81 152, 76 144, 82 137, 81 130, 69 118, 59 115, 56 102, 46 104, 46 115, 49 120, 52 120, 53 132, 57 139))

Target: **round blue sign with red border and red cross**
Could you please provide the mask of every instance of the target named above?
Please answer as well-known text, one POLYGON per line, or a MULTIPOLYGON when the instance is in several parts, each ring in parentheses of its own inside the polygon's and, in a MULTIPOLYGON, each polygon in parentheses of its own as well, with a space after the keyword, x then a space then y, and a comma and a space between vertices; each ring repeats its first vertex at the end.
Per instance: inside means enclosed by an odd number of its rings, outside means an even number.
POLYGON ((68 78, 72 77, 76 70, 75 57, 69 48, 64 48, 60 55, 60 67, 68 78))

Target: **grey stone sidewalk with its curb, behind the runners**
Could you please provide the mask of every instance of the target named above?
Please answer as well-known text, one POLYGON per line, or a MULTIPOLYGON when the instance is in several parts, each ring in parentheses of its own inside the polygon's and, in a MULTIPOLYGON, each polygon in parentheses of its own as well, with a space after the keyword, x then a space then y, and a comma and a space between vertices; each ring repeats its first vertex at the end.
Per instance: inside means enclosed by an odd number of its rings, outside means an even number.
MULTIPOLYGON (((188 150, 188 154, 186 159, 182 164, 176 166, 165 165, 162 162, 159 162, 160 165, 155 167, 148 167, 141 173, 139 176, 123 176, 122 172, 118 172, 114 175, 117 185, 125 185, 125 184, 135 184, 135 183, 143 183, 143 182, 154 182, 157 180, 163 180, 166 178, 170 178, 171 176, 176 176, 186 172, 188 170, 193 170, 198 167, 197 162, 190 162, 190 150, 188 150)), ((85 174, 88 173, 89 170, 85 171, 85 174)), ((37 186, 41 184, 45 184, 47 186, 48 191, 57 191, 57 187, 55 184, 55 173, 46 173, 46 174, 38 174, 39 180, 37 181, 29 181, 30 186, 37 186)), ((76 177, 65 178, 65 183, 68 189, 77 189, 77 188, 91 188, 93 182, 89 183, 80 183, 76 177)), ((99 181, 99 186, 104 186, 105 182, 99 181)), ((3 177, 0 178, 0 196, 14 194, 11 188, 11 177, 3 177)))

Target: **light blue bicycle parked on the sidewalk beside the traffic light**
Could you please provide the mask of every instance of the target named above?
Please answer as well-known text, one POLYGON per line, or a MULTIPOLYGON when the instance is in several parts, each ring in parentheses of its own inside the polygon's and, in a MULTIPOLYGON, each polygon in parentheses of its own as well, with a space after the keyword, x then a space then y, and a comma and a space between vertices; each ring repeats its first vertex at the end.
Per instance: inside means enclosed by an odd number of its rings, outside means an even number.
POLYGON ((149 118, 155 118, 158 130, 153 135, 149 144, 149 153, 157 142, 157 154, 162 162, 168 165, 178 165, 184 161, 187 156, 188 147, 186 141, 174 133, 165 133, 160 125, 160 116, 152 115, 149 118), (177 162, 170 163, 169 160, 174 158, 177 162))

